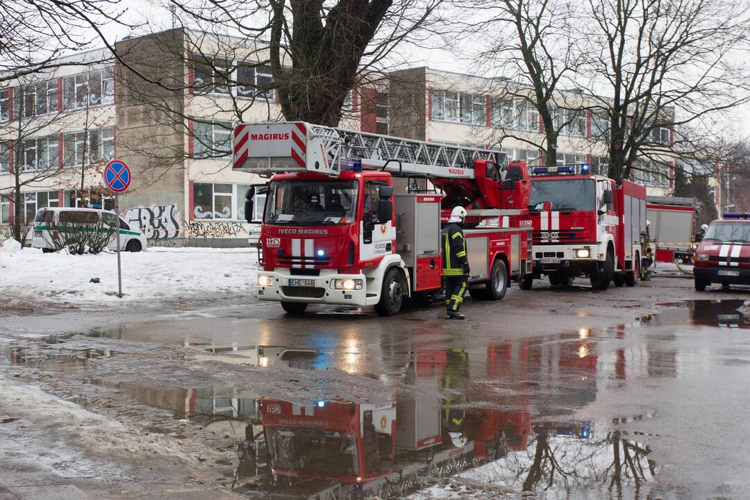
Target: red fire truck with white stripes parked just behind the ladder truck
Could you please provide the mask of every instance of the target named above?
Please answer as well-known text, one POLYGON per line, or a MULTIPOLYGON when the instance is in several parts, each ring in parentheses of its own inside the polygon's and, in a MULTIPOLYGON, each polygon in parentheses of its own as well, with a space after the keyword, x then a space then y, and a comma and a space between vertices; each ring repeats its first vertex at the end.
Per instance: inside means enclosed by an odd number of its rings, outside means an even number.
POLYGON ((529 214, 521 226, 533 228, 533 274, 569 286, 588 276, 596 290, 635 286, 640 268, 640 235, 646 230, 646 188, 631 181, 593 175, 589 166, 532 170, 529 214))

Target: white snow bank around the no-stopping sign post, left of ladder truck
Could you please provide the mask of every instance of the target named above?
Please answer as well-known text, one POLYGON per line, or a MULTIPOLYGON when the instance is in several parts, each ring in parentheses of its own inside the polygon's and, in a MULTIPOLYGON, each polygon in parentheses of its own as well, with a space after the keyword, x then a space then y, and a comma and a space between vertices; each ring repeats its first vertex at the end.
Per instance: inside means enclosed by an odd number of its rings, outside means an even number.
POLYGON ((121 254, 122 293, 117 297, 117 255, 65 255, 24 248, 0 253, 0 302, 119 304, 196 298, 254 289, 254 248, 149 248, 121 254), (100 283, 91 283, 99 278, 100 283))

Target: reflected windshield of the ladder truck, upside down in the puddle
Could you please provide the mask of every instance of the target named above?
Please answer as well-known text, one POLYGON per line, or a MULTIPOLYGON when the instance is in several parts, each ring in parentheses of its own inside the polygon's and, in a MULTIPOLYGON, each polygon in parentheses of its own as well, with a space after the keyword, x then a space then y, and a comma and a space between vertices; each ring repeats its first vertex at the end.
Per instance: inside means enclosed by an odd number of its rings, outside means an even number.
POLYGON ((354 437, 329 430, 266 427, 272 466, 320 475, 359 473, 354 437))

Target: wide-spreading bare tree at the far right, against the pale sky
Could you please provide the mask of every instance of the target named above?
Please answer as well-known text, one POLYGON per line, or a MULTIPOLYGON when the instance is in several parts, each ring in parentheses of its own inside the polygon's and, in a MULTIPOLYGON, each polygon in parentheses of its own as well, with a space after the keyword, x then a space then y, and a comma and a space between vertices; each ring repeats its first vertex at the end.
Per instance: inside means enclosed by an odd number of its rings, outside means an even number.
POLYGON ((653 168, 637 164, 640 157, 662 164, 700 157, 695 131, 706 133, 701 125, 712 115, 748 99, 746 73, 734 64, 748 34, 743 4, 589 0, 588 7, 596 27, 586 37, 588 89, 608 139, 610 177, 653 168))

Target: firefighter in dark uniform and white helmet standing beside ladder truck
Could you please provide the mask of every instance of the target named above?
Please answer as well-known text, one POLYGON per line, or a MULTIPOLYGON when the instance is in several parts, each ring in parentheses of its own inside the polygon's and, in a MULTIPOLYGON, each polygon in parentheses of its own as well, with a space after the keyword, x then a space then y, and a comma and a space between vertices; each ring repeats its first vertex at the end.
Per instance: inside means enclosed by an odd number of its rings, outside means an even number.
POLYGON ((451 212, 448 225, 443 228, 443 276, 446 279, 446 307, 448 319, 464 319, 458 310, 469 282, 469 260, 466 258, 466 238, 461 224, 466 209, 456 207, 451 212))

